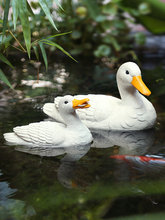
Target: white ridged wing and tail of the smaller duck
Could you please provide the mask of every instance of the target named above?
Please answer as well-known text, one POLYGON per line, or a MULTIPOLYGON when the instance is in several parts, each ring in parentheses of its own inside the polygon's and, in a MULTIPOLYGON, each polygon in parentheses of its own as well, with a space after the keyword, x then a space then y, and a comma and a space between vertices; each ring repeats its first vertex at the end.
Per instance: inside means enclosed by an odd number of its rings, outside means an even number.
POLYGON ((33 145, 61 145, 65 140, 66 127, 56 122, 31 123, 25 126, 17 126, 14 133, 4 134, 8 142, 15 144, 33 145))

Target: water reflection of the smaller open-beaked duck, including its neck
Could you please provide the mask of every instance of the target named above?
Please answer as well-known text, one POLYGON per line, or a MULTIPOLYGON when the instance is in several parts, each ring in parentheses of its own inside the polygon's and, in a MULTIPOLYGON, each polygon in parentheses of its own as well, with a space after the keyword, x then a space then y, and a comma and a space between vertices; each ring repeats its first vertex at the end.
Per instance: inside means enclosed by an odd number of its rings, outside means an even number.
MULTIPOLYGON (((15 150, 29 153, 33 155, 39 155, 41 157, 57 157, 65 155, 61 159, 61 164, 57 171, 58 181, 65 188, 77 188, 78 185, 82 185, 82 182, 78 184, 76 180, 75 170, 78 168, 76 161, 80 160, 89 151, 91 145, 70 146, 66 148, 57 147, 33 147, 33 146, 17 146, 15 150)), ((81 187, 79 186, 79 189, 81 187)))

